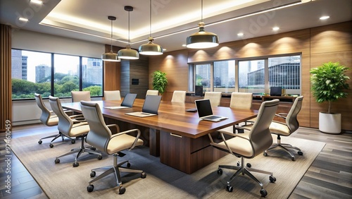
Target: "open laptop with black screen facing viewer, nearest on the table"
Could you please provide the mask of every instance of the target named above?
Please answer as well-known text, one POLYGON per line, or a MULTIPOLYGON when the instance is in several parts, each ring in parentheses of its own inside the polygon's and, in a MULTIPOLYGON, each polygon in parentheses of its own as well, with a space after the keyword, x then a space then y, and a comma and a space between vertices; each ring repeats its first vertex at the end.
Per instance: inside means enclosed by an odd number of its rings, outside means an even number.
POLYGON ((227 119, 225 116, 216 116, 213 115, 213 110, 211 109, 210 100, 194 100, 196 103, 196 109, 198 111, 199 119, 207 121, 221 121, 227 119))

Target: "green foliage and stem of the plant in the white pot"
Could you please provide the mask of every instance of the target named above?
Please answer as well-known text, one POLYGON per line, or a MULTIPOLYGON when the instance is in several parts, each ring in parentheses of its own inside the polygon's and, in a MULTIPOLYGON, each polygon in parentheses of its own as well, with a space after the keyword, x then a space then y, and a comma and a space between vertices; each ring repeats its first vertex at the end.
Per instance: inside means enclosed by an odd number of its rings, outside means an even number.
POLYGON ((330 113, 331 102, 347 97, 345 91, 349 88, 348 83, 346 83, 349 77, 345 75, 345 72, 348 69, 339 62, 331 61, 310 69, 313 96, 318 103, 329 102, 328 114, 330 113))

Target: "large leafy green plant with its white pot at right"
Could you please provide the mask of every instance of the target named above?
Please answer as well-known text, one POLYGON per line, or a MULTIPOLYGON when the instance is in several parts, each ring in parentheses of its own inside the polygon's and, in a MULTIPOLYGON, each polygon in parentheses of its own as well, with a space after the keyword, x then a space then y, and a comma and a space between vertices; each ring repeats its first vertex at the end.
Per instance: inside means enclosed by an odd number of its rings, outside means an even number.
POLYGON ((349 77, 345 71, 349 68, 339 62, 324 63, 317 68, 311 68, 310 82, 316 102, 328 102, 327 112, 319 113, 319 131, 323 133, 341 133, 341 114, 332 113, 331 102, 341 97, 347 97, 345 92, 349 85, 349 77))

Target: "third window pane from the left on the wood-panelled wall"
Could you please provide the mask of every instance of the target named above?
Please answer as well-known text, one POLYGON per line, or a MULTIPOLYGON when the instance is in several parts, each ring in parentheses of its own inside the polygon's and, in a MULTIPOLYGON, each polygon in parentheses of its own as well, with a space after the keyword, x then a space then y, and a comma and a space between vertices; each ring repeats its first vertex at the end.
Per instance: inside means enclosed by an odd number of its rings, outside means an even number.
POLYGON ((239 61, 239 92, 262 93, 265 90, 265 61, 239 61))

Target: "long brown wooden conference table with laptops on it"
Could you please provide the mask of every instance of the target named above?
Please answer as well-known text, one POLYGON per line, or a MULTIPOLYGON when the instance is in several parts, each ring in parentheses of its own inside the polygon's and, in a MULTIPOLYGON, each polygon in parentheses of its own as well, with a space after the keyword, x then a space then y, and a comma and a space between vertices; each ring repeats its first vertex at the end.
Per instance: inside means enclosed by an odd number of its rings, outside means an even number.
MULTIPOLYGON (((257 110, 212 107, 213 114, 228 119, 213 122, 199 119, 198 113, 186 109, 193 103, 161 101, 157 116, 137 117, 125 113, 142 111, 144 100, 136 99, 132 108, 106 109, 120 105, 118 101, 93 101, 99 104, 107 123, 118 123, 122 131, 141 126, 149 128, 149 152, 159 156, 170 167, 191 174, 225 156, 227 153, 211 147, 208 133, 253 119, 257 110)), ((80 112, 80 102, 63 103, 63 108, 80 112)), ((142 130, 141 130, 142 131, 142 130)))

